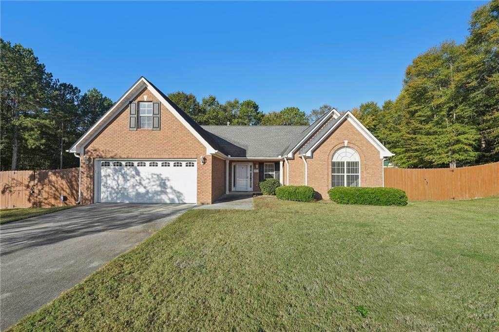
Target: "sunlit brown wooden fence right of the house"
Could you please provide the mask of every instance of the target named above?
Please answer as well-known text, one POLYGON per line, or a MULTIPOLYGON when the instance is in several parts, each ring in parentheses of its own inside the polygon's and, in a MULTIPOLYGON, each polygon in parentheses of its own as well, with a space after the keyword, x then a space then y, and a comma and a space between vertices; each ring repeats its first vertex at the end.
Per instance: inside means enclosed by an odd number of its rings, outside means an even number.
POLYGON ((385 187, 409 200, 445 201, 499 195, 499 162, 460 168, 385 168, 385 187))

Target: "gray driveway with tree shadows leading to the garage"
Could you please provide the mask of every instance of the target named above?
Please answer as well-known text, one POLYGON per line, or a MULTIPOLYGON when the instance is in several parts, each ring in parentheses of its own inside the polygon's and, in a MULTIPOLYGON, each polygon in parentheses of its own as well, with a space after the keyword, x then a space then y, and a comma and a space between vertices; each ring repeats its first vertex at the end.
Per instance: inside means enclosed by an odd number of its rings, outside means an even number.
POLYGON ((0 329, 194 206, 93 204, 0 226, 0 329))

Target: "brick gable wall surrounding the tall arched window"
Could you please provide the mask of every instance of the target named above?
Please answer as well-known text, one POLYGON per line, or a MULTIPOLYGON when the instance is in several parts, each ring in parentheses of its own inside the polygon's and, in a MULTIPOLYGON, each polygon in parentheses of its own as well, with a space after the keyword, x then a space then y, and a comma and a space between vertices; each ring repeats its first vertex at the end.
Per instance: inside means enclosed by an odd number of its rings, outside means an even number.
MULTIPOLYGON (((315 189, 319 198, 329 199, 327 191, 331 188, 331 159, 337 149, 345 146, 345 140, 348 140, 347 146, 355 149, 360 156, 360 185, 383 185, 383 161, 379 150, 347 120, 314 151, 313 158, 307 159, 308 185, 315 189)), ((298 153, 289 160, 289 184, 305 184, 304 164, 298 153)))

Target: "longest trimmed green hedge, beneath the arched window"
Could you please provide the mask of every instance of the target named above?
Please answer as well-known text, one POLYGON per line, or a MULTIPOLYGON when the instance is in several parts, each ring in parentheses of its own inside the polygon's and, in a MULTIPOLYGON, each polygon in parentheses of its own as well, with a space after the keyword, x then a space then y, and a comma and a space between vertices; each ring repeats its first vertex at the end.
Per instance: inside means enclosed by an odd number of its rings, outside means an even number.
POLYGON ((339 204, 407 205, 405 191, 397 188, 334 187, 327 193, 339 204))

